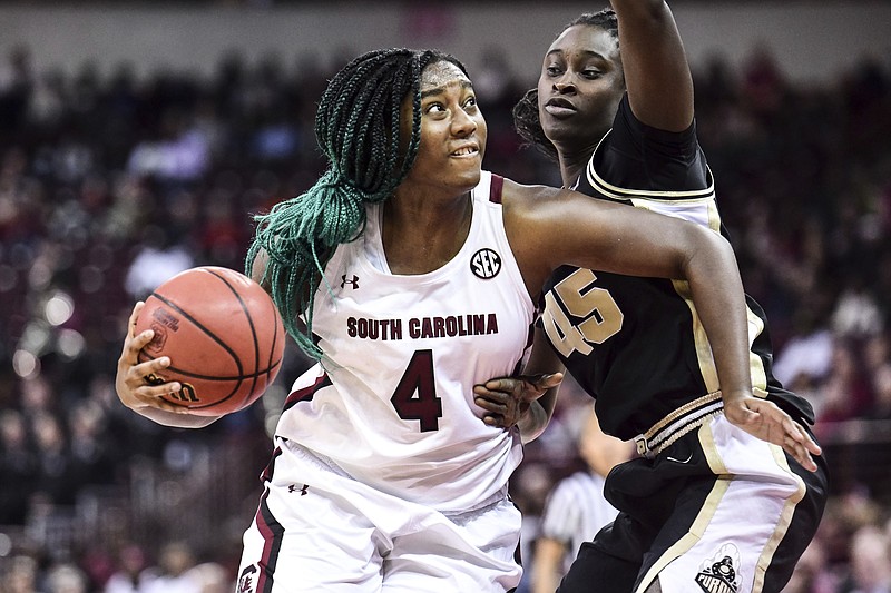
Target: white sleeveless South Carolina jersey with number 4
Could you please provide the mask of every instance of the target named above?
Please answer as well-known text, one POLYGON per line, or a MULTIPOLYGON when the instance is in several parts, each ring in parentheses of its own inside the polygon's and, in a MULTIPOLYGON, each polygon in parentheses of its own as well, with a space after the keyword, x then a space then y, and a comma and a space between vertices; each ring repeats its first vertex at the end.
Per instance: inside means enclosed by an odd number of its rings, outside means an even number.
POLYGON ((503 495, 519 434, 483 424, 472 388, 517 370, 535 305, 505 235, 500 181, 482 172, 467 241, 429 274, 389 273, 381 206, 368 207, 363 235, 325 267, 313 313, 323 358, 294 383, 277 435, 443 512, 503 495))

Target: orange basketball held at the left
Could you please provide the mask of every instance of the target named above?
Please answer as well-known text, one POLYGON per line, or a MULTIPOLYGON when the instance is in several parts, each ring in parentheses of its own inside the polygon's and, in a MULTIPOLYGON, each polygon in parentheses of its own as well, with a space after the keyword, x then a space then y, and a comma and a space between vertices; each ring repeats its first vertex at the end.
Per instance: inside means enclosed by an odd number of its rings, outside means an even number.
POLYGON ((244 274, 222 267, 187 269, 158 286, 139 312, 136 333, 154 329, 139 362, 170 357, 151 384, 178 380, 164 396, 193 414, 243 409, 282 368, 285 329, 268 294, 244 274))

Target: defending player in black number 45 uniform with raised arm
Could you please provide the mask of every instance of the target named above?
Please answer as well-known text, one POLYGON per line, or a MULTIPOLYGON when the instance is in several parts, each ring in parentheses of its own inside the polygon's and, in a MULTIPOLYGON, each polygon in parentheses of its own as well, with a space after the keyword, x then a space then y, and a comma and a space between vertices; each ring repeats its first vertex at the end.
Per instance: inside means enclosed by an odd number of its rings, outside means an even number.
MULTIPOLYGON (((513 113, 566 187, 723 233, 689 67, 662 0, 611 0, 572 21, 513 113)), ((764 312, 747 300, 753 393, 722 394, 688 288, 568 266, 546 285, 547 339, 527 369, 558 368, 542 362, 549 342, 604 429, 640 454, 609 475, 620 514, 582 546, 560 593, 779 592, 816 531, 826 466, 806 428, 811 405, 772 375, 764 312), (758 426, 750 414, 764 405, 789 414, 807 446, 758 426)), ((477 403, 487 422, 510 425, 522 399, 549 386, 498 379, 477 387, 477 403)), ((541 401, 552 411, 550 394, 541 401)))

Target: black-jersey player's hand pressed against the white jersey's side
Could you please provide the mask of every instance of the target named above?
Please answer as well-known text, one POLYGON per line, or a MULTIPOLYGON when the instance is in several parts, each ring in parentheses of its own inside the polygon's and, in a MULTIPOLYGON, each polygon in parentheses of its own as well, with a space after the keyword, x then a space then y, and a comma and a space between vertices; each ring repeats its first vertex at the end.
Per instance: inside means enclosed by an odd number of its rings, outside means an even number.
POLYGON ((491 379, 473 387, 473 401, 486 411, 482 422, 509 428, 529 409, 529 404, 562 382, 562 373, 518 375, 491 379))

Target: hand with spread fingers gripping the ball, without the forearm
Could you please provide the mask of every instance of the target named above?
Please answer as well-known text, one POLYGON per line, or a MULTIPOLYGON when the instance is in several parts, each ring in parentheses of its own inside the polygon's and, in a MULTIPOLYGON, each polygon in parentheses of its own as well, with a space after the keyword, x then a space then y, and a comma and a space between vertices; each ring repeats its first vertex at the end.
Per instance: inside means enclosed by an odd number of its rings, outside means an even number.
POLYGON ((124 340, 124 349, 118 359, 118 370, 115 378, 115 389, 118 393, 118 398, 125 406, 135 412, 155 408, 176 414, 187 413, 187 408, 173 405, 161 398, 163 395, 177 393, 182 388, 179 383, 151 385, 146 380, 147 377, 157 376, 159 370, 169 366, 170 359, 164 356, 139 363, 139 350, 151 342, 154 335, 150 329, 138 335, 134 334, 136 319, 139 317, 139 312, 144 306, 145 303, 141 302, 136 304, 127 324, 127 337, 124 340))

